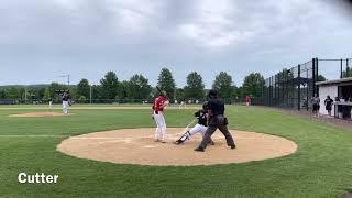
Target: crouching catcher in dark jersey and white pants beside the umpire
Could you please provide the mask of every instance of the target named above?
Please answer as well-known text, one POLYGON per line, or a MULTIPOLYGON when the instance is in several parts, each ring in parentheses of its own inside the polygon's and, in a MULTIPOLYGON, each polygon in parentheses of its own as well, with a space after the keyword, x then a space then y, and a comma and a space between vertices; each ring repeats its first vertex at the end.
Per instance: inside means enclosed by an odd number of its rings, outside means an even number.
MULTIPOLYGON (((185 134, 183 134, 175 144, 179 145, 184 143, 185 141, 189 140, 190 136, 193 136, 196 133, 201 133, 204 136, 206 134, 206 131, 208 129, 207 124, 207 106, 208 103, 202 105, 202 109, 195 112, 195 117, 198 119, 198 123, 189 131, 186 131, 185 134)), ((215 145, 215 142, 210 139, 209 144, 215 145)))

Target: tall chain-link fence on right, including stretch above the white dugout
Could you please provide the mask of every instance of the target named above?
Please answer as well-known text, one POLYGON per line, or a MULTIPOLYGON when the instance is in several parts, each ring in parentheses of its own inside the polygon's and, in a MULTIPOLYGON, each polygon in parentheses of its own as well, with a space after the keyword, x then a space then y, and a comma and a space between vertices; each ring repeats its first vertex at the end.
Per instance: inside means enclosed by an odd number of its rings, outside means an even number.
POLYGON ((352 58, 319 59, 285 68, 276 75, 266 78, 262 97, 255 99, 255 105, 307 109, 311 108, 310 99, 319 95, 317 81, 334 80, 352 77, 352 58))

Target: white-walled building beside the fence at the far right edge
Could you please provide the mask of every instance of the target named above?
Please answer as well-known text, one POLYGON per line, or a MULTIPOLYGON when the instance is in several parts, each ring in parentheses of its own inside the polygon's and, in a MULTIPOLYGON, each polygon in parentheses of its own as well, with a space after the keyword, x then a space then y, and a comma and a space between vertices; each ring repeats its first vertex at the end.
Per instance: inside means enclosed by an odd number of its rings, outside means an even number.
MULTIPOLYGON (((324 100, 327 96, 330 96, 333 101, 336 98, 351 99, 352 98, 352 77, 341 78, 338 80, 328 80, 317 82, 319 86, 320 98, 320 113, 328 114, 326 110, 324 100)), ((344 100, 343 100, 344 101, 344 100)), ((332 116, 334 116, 334 106, 332 107, 332 116)))

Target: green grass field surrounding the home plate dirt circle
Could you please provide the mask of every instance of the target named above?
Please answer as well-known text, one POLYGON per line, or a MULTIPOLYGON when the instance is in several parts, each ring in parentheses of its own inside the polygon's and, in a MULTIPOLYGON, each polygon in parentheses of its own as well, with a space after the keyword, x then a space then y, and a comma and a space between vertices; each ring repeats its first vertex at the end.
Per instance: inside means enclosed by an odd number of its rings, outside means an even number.
MULTIPOLYGON (((168 127, 187 125, 193 111, 168 110, 168 127)), ((154 127, 150 110, 90 109, 73 110, 70 117, 7 117, 23 112, 33 110, 0 109, 0 197, 338 197, 352 191, 352 131, 271 109, 228 107, 230 128, 285 136, 299 145, 297 153, 194 167, 118 165, 56 152, 66 135, 154 127), (25 136, 34 134, 65 136, 25 136), (59 175, 58 184, 19 184, 21 172, 59 175)))

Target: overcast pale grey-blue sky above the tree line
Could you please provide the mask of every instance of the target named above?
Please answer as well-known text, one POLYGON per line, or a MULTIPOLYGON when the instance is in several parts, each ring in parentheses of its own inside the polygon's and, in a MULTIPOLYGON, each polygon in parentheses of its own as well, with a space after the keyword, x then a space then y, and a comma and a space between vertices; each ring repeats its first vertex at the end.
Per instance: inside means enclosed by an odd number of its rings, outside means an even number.
MULTIPOLYGON (((64 82, 65 74, 98 84, 114 70, 155 86, 162 67, 178 87, 194 70, 206 87, 221 70, 241 85, 251 72, 352 57, 351 9, 331 1, 1 0, 0 85, 64 82)), ((321 68, 332 76, 339 66, 321 68)))

